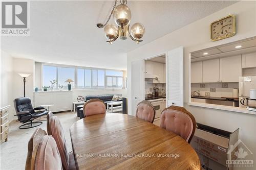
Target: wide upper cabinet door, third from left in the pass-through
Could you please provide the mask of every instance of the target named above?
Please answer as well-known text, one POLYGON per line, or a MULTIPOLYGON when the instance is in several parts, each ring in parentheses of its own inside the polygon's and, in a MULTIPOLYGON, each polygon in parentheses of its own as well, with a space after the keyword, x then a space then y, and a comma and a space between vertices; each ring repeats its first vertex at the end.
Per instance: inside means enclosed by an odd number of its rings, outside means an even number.
POLYGON ((239 82, 241 65, 241 55, 220 58, 220 82, 239 82))

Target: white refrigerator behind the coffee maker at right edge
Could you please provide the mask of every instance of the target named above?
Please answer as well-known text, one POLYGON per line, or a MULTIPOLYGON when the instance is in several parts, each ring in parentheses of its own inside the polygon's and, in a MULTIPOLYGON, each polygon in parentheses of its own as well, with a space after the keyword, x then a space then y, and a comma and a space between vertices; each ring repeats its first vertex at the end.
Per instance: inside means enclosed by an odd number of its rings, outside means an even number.
POLYGON ((239 77, 239 107, 246 107, 240 101, 250 97, 250 89, 256 89, 256 76, 239 77))

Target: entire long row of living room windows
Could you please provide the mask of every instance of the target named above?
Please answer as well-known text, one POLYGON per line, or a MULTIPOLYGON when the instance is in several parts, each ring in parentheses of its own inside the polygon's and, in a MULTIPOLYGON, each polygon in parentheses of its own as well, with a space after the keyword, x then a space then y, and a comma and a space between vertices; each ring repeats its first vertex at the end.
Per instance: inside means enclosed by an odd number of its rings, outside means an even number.
POLYGON ((67 89, 67 79, 71 79, 73 88, 122 88, 123 71, 105 70, 97 68, 77 68, 76 66, 51 66, 43 65, 42 71, 43 86, 51 86, 51 81, 57 80, 58 85, 67 89))

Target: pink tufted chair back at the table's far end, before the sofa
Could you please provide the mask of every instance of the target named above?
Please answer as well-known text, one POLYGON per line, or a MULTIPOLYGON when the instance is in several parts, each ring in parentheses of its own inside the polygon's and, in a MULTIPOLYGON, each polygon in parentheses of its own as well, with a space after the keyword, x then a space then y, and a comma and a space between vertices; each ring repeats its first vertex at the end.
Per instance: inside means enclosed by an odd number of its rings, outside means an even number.
POLYGON ((83 105, 84 117, 91 116, 94 114, 105 114, 106 106, 105 103, 99 99, 90 99, 83 105))

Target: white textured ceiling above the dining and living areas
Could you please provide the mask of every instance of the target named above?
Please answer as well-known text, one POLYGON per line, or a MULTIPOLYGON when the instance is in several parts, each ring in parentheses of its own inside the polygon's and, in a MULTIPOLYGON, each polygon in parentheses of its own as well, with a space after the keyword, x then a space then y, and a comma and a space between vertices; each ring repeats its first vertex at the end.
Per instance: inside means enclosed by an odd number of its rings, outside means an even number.
POLYGON ((145 27, 143 42, 128 38, 110 45, 96 23, 108 17, 114 1, 31 1, 30 36, 1 37, 1 49, 41 62, 126 69, 127 52, 234 3, 128 1, 131 25, 141 22, 145 27))

